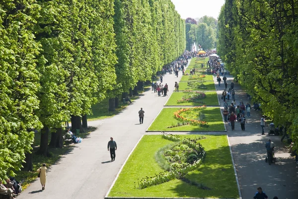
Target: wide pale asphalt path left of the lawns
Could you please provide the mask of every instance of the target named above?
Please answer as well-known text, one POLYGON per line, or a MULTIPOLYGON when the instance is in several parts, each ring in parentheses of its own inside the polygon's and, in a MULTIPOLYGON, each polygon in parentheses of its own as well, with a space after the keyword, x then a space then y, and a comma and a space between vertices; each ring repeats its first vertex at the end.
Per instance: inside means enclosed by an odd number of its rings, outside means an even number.
MULTIPOLYGON (((173 92, 174 74, 163 75, 168 84, 166 97, 158 97, 151 88, 118 115, 98 121, 88 122, 97 129, 84 138, 60 161, 48 169, 45 190, 41 192, 39 179, 36 179, 18 199, 103 199, 114 181, 125 159, 136 143, 146 133, 146 129, 158 115, 173 92), (144 123, 139 123, 139 110, 145 111, 144 123), (117 143, 115 161, 110 162, 107 143, 110 137, 117 143)), ((159 82, 159 81, 158 81, 159 82)))

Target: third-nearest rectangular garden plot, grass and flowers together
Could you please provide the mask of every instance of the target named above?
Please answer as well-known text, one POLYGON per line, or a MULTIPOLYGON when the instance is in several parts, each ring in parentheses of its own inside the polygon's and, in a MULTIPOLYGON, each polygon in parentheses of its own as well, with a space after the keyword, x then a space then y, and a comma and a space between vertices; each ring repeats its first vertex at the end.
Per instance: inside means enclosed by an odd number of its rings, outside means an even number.
POLYGON ((216 92, 173 92, 165 106, 219 106, 216 92), (204 94, 203 94, 204 93, 204 94))

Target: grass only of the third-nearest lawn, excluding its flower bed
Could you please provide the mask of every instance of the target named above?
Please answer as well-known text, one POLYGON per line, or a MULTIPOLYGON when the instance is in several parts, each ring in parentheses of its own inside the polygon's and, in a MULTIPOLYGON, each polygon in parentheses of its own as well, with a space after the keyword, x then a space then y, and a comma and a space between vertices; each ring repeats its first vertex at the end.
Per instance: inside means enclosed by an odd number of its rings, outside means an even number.
POLYGON ((218 106, 219 100, 218 95, 216 92, 205 92, 206 98, 202 99, 200 101, 203 101, 204 104, 199 104, 195 102, 183 102, 183 103, 177 103, 177 100, 181 100, 184 95, 187 93, 183 92, 173 92, 165 104, 165 106, 218 106))

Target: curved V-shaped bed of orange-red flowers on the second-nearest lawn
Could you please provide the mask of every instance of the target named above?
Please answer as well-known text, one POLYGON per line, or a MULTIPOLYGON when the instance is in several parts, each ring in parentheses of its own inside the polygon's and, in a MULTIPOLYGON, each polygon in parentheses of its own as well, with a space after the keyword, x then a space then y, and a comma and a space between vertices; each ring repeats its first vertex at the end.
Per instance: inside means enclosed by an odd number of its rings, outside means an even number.
POLYGON ((200 113, 201 113, 200 111, 205 110, 205 109, 206 109, 206 106, 180 109, 180 110, 174 112, 174 117, 175 117, 175 119, 177 119, 181 122, 188 122, 192 126, 200 126, 200 127, 208 128, 209 127, 208 122, 201 121, 201 120, 195 120, 195 119, 189 119, 189 118, 186 118, 185 116, 182 116, 182 113, 187 115, 189 112, 192 112, 192 111, 199 111, 199 116, 200 116, 200 113))

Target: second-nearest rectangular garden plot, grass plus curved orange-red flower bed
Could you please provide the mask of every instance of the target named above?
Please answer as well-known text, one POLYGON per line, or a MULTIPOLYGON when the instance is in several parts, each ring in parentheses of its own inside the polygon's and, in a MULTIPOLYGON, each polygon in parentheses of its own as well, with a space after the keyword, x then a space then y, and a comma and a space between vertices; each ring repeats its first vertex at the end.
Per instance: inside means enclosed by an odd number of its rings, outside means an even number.
POLYGON ((225 129, 220 108, 194 107, 162 109, 148 131, 224 132, 225 129))

